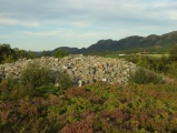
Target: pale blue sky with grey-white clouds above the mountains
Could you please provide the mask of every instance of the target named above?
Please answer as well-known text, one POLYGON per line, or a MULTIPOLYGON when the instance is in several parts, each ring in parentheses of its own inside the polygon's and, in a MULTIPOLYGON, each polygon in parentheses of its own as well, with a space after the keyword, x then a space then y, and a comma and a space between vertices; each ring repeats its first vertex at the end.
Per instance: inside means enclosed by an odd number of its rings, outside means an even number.
POLYGON ((177 30, 177 0, 0 0, 0 44, 32 51, 177 30))

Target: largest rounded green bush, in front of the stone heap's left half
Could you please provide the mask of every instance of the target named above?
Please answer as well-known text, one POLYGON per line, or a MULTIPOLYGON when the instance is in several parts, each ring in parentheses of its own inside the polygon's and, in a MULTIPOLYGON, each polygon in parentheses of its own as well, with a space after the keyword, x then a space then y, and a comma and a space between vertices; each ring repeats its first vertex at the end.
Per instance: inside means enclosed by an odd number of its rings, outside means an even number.
POLYGON ((41 66, 38 62, 30 63, 20 76, 20 84, 30 88, 39 88, 51 84, 50 69, 41 66))

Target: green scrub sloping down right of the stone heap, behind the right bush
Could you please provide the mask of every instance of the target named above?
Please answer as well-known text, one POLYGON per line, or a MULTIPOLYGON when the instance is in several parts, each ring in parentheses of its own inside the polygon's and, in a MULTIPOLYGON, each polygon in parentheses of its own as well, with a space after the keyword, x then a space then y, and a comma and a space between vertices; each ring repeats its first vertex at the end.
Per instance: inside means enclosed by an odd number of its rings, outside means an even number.
POLYGON ((126 60, 139 66, 177 79, 177 45, 171 48, 169 55, 151 58, 147 55, 127 55, 126 60))

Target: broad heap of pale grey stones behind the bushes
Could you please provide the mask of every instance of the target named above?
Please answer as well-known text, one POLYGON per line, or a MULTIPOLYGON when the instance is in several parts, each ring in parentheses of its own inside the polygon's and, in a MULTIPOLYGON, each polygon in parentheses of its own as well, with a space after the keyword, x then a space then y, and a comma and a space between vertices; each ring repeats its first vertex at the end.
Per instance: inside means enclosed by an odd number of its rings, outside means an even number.
POLYGON ((29 63, 38 62, 40 65, 48 66, 52 70, 51 75, 56 78, 59 71, 70 75, 73 84, 94 83, 97 81, 109 84, 127 84, 129 73, 136 70, 136 65, 120 59, 109 59, 101 57, 68 55, 62 59, 46 58, 40 59, 20 59, 13 63, 0 65, 0 79, 13 76, 19 79, 21 72, 29 63))

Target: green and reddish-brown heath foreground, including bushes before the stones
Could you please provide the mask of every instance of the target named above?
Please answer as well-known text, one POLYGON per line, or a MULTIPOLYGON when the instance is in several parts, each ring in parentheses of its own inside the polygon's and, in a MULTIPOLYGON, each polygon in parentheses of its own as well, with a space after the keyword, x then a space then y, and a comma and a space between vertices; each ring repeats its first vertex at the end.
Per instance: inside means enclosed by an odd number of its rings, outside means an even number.
MULTIPOLYGON (((135 79, 145 74, 138 71, 135 79)), ((177 132, 176 82, 151 82, 151 74, 147 73, 139 82, 144 84, 95 83, 75 88, 70 78, 59 72, 59 85, 55 86, 49 73, 49 68, 33 63, 19 82, 1 81, 2 133, 177 132)))

